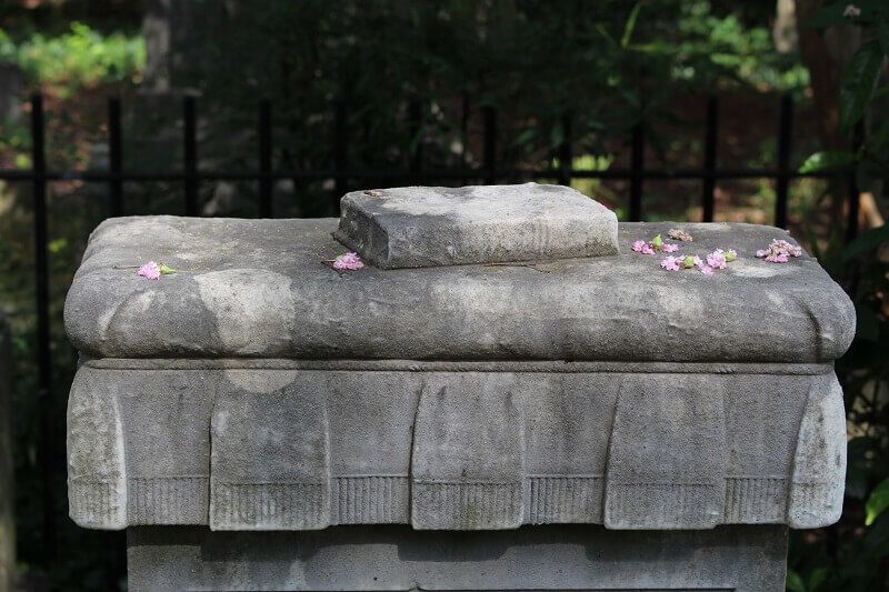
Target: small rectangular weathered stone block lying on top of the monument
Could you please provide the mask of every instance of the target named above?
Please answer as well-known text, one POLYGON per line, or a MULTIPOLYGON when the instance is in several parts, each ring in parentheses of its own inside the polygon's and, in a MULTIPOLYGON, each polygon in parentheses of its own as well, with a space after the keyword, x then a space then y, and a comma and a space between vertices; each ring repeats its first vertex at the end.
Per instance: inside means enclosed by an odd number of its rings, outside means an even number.
POLYGON ((562 185, 347 193, 336 237, 383 269, 612 255, 615 212, 562 185))

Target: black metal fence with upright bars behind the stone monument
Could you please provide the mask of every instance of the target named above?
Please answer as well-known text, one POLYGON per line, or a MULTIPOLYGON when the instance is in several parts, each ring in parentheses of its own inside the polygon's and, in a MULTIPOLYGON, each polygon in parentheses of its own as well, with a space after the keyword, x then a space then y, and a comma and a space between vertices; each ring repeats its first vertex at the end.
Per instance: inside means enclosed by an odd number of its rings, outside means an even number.
MULTIPOLYGON (((411 103, 408 109, 411 126, 419 129, 419 103, 411 103)), ((772 179, 776 187, 775 225, 785 228, 788 222, 788 189, 791 180, 802 177, 836 178, 845 177, 848 183, 848 220, 847 239, 851 239, 858 230, 859 192, 855 177, 850 171, 823 173, 800 173, 790 168, 793 100, 789 96, 780 98, 779 119, 777 122, 778 158, 773 168, 766 169, 720 169, 718 168, 718 114, 719 101, 716 97, 707 99, 706 127, 703 142, 703 164, 697 169, 649 169, 645 163, 645 123, 632 127, 630 138, 629 169, 576 170, 571 168, 571 118, 562 120, 566 140, 556 151, 559 168, 557 169, 505 169, 499 168, 497 155, 497 111, 491 107, 482 108, 483 124, 482 163, 480 168, 462 168, 434 170, 423 167, 421 149, 418 147, 410 159, 409 169, 390 171, 352 170, 348 162, 347 106, 337 102, 333 106, 332 169, 329 170, 276 170, 272 160, 273 113, 269 101, 258 106, 259 169, 250 172, 206 171, 198 167, 197 139, 197 100, 186 97, 182 102, 183 118, 183 161, 178 171, 124 171, 123 141, 121 128, 121 104, 119 99, 108 101, 108 144, 109 169, 107 171, 53 171, 47 167, 43 100, 40 96, 31 98, 31 170, 0 170, 0 179, 26 181, 33 188, 33 233, 36 241, 36 302, 37 302, 37 362, 40 387, 41 408, 41 462, 44 471, 42 505, 44 512, 44 539, 47 553, 51 554, 54 544, 53 508, 56 500, 50 486, 50 475, 56 462, 52 451, 56 450, 56 438, 52 433, 52 368, 50 360, 50 309, 49 309, 49 253, 47 232, 47 184, 51 181, 80 180, 107 183, 111 195, 110 215, 121 215, 126 211, 123 195, 124 182, 168 181, 180 182, 184 189, 187 215, 198 215, 198 192, 202 181, 237 180, 253 181, 259 189, 259 213, 263 218, 274 215, 272 208, 273 181, 291 180, 327 180, 334 182, 330 211, 339 213, 339 197, 346 192, 350 182, 368 181, 383 184, 387 181, 403 182, 409 180, 423 184, 426 180, 452 180, 455 183, 482 182, 493 184, 500 181, 519 181, 525 179, 557 179, 562 184, 570 184, 572 179, 611 179, 629 182, 628 212, 631 221, 643 218, 642 187, 646 180, 700 180, 701 205, 703 221, 710 222, 715 213, 715 190, 720 179, 772 179)), ((860 139, 859 139, 860 141, 860 139)), ((134 212, 127 212, 134 213, 134 212)))

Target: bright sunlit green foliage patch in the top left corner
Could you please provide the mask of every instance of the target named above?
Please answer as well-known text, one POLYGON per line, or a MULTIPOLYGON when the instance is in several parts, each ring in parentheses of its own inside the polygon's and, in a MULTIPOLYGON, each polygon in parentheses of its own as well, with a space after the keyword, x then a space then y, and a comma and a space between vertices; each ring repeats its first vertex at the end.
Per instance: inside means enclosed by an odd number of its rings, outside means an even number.
POLYGON ((81 22, 58 37, 33 33, 16 43, 0 29, 0 60, 18 64, 33 88, 54 90, 61 98, 83 88, 136 81, 144 68, 141 37, 104 36, 81 22))

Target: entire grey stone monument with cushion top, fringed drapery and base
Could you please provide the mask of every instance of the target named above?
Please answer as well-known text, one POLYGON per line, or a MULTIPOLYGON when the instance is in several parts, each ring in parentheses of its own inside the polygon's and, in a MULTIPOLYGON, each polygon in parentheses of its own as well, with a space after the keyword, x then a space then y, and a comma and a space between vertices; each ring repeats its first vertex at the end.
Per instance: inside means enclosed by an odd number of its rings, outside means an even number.
POLYGON ((783 590, 787 528, 838 520, 855 312, 756 255, 785 231, 536 184, 342 212, 92 234, 70 515, 129 530, 131 589, 783 590))

